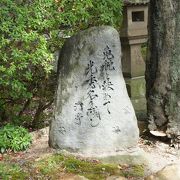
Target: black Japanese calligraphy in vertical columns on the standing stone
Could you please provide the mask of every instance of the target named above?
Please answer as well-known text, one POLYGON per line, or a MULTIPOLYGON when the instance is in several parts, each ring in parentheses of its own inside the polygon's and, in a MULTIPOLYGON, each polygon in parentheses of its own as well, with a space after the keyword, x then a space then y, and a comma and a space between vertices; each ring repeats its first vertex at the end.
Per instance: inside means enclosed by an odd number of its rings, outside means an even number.
MULTIPOLYGON (((81 125, 82 118, 86 115, 89 119, 91 127, 97 127, 101 120, 101 115, 96 102, 98 99, 103 99, 103 106, 107 107, 107 112, 111 114, 108 104, 111 103, 111 91, 114 91, 113 83, 110 79, 110 71, 115 70, 114 55, 107 45, 102 52, 102 64, 97 68, 94 60, 89 60, 85 69, 85 81, 87 84, 87 98, 83 102, 78 101, 74 104, 75 124, 81 125), (98 82, 99 75, 103 78, 103 82, 98 82), (97 92, 103 91, 102 94, 97 92), (101 97, 99 97, 101 96, 101 97), (103 97, 102 97, 103 96, 103 97), (84 104, 86 104, 86 106, 84 104), (86 107, 84 109, 84 106, 86 107)), ((78 89, 75 86, 76 90, 78 89)))

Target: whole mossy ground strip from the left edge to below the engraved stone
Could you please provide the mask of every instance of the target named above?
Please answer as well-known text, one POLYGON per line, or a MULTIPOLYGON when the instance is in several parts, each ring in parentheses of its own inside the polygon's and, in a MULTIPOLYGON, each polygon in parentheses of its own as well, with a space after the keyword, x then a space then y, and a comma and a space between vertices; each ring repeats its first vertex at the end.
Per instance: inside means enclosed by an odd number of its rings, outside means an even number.
POLYGON ((39 161, 0 162, 0 179, 59 179, 62 174, 78 174, 92 180, 103 180, 108 176, 124 176, 141 178, 144 176, 143 166, 118 166, 88 161, 74 156, 54 154, 39 161))

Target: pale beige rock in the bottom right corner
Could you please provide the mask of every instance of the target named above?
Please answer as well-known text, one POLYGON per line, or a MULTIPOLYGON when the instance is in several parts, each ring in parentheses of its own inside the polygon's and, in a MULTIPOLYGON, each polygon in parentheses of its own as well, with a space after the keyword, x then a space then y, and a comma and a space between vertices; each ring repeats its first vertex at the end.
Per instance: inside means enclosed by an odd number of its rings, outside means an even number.
POLYGON ((158 171, 154 175, 150 175, 145 180, 179 180, 180 164, 171 164, 158 171))

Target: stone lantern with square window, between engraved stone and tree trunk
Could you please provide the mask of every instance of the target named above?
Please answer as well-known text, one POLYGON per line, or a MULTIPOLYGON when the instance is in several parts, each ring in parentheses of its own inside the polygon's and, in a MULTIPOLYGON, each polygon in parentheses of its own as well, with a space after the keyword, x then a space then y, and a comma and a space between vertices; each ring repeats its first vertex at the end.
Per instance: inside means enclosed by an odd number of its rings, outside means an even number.
POLYGON ((146 116, 145 60, 141 47, 147 42, 148 0, 124 0, 120 30, 122 69, 138 119, 146 116))

